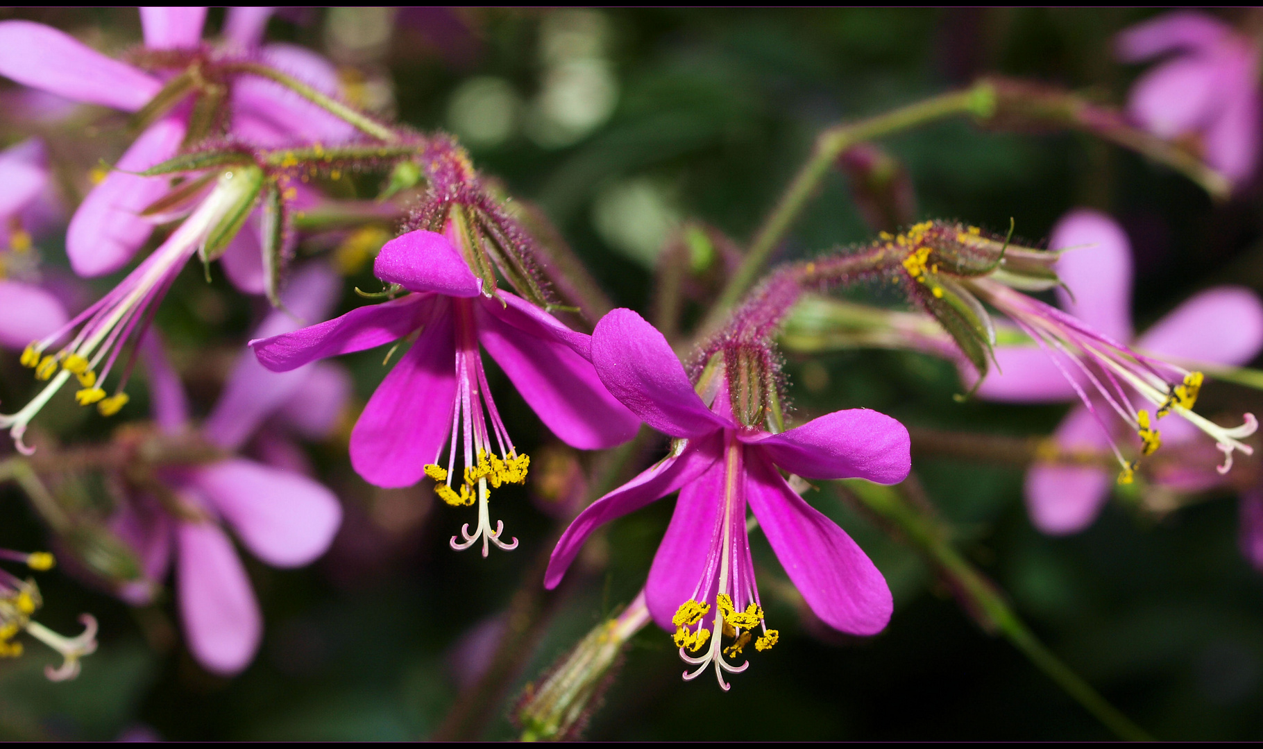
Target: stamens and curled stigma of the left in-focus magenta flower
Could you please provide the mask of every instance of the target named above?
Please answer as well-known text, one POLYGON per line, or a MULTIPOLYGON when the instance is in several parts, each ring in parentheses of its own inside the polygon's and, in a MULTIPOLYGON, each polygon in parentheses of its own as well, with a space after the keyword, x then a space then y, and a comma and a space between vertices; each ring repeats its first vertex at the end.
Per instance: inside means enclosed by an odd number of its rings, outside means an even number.
POLYGON ((434 462, 426 466, 426 475, 434 481, 434 494, 452 506, 469 506, 477 500, 477 529, 471 534, 469 523, 461 527, 464 541, 456 541, 452 536, 448 542, 456 551, 464 551, 482 539, 482 556, 486 557, 490 544, 495 544, 504 551, 518 548, 518 539, 505 543, 500 539, 504 530, 504 520, 495 522, 495 530, 491 530, 491 519, 488 510, 488 484, 493 489, 499 489, 504 484, 525 484, 527 469, 530 466, 530 456, 518 455, 509 438, 509 432, 500 419, 500 412, 491 399, 491 389, 486 383, 486 373, 482 370, 482 356, 477 344, 477 335, 474 328, 474 309, 467 299, 453 299, 456 313, 456 403, 452 407, 452 437, 447 450, 447 467, 438 465, 442 455, 434 456, 434 462), (484 405, 486 410, 484 412, 484 405), (486 421, 490 417, 491 432, 488 432, 486 421), (491 443, 491 434, 495 436, 495 445, 491 443), (464 479, 460 493, 452 489, 452 479, 456 472, 457 437, 461 437, 464 447, 464 479), (496 455, 499 448, 499 455, 496 455))

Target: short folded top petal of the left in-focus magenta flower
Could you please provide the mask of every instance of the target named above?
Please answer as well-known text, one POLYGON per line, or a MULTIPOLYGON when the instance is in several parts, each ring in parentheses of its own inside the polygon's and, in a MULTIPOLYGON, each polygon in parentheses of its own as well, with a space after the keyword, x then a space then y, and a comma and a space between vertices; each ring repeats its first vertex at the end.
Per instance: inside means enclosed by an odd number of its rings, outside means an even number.
POLYGON ((448 297, 476 297, 482 288, 465 258, 433 231, 409 231, 388 241, 373 263, 373 274, 408 291, 448 297))

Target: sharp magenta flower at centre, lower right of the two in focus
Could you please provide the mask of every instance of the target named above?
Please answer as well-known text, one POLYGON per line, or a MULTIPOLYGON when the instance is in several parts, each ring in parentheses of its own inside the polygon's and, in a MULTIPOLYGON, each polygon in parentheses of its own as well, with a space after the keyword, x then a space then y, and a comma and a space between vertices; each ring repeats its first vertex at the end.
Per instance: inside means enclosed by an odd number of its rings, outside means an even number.
POLYGON ((707 408, 667 340, 630 309, 615 309, 597 323, 592 364, 619 400, 677 442, 667 458, 580 513, 553 551, 547 587, 561 582, 599 525, 679 489, 645 600, 654 621, 674 630, 679 657, 698 667, 686 672, 686 680, 714 664, 726 690, 724 671, 738 673, 749 663, 733 666, 725 656, 739 654, 750 630, 763 628, 755 642, 759 650, 777 640, 777 630, 763 623, 746 503, 789 580, 822 621, 860 635, 885 626, 893 606, 885 578, 841 528, 789 488, 778 469, 805 479, 897 484, 912 467, 903 424, 875 410, 853 409, 779 434, 744 428, 731 416, 726 388, 707 408), (730 638, 727 647, 721 633, 730 638), (688 654, 700 650, 701 657, 688 654))

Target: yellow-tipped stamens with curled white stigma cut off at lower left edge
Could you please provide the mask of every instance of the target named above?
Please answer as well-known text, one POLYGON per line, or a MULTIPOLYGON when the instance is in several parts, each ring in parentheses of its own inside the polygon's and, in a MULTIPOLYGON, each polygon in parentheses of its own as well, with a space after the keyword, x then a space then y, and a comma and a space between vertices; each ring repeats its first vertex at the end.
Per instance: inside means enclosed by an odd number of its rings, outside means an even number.
MULTIPOLYGON (((0 549, 0 560, 21 562, 39 572, 51 570, 56 562, 48 552, 23 553, 10 549, 0 549)), ((30 618, 43 602, 39 586, 33 578, 21 580, 0 570, 0 658, 21 656, 21 643, 14 638, 25 632, 64 658, 59 667, 44 668, 44 676, 49 681, 75 678, 80 672, 80 658, 96 652, 96 619, 88 614, 81 615, 83 633, 75 638, 62 637, 38 621, 32 621, 30 618)))

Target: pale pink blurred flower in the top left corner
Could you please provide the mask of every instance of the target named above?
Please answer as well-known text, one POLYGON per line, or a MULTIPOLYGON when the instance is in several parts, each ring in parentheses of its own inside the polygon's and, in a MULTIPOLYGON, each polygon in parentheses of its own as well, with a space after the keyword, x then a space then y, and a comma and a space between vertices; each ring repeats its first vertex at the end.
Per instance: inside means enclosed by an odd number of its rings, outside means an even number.
MULTIPOLYGON (((263 24, 256 16, 258 9, 230 10, 226 30, 235 37, 221 54, 255 54, 326 93, 337 91, 337 72, 320 56, 292 45, 259 49, 263 24), (246 18, 237 20, 242 14, 246 18)), ((145 48, 201 53, 205 18, 205 8, 141 9, 145 48)), ((162 90, 163 77, 169 77, 164 71, 149 73, 112 59, 57 29, 24 20, 0 21, 0 75, 73 101, 128 112, 149 104, 162 90)), ((270 81, 242 77, 234 83, 231 96, 230 134, 248 143, 336 143, 354 134, 346 123, 270 81)), ((117 171, 106 174, 80 205, 66 236, 66 253, 76 273, 112 273, 149 237, 153 221, 140 212, 169 189, 169 179, 128 172, 141 172, 176 155, 188 130, 188 107, 179 106, 150 125, 119 159, 117 171)), ((249 249, 248 244, 237 244, 229 253, 249 249)))

